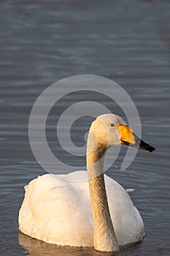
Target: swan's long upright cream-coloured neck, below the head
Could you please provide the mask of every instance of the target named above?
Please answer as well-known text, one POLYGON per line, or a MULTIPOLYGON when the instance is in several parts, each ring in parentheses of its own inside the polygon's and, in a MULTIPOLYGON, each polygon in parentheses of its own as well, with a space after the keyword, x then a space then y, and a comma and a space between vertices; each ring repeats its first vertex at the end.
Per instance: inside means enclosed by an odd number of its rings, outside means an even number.
POLYGON ((89 134, 87 170, 94 222, 94 248, 98 251, 113 252, 117 251, 119 246, 109 213, 104 183, 104 154, 107 151, 107 146, 102 143, 94 145, 94 141, 93 134, 89 134))

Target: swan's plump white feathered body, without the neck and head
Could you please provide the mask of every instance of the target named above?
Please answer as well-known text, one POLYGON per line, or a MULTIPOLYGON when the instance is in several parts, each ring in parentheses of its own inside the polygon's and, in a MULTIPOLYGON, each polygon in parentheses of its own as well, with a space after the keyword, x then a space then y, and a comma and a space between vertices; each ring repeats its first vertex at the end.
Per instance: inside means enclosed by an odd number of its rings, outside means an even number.
MULTIPOLYGON (((139 211, 120 184, 106 175, 104 178, 118 244, 141 240, 144 226, 139 211)), ((69 173, 66 180, 45 174, 31 181, 20 208, 19 228, 28 236, 49 243, 93 246, 87 172, 69 173)))

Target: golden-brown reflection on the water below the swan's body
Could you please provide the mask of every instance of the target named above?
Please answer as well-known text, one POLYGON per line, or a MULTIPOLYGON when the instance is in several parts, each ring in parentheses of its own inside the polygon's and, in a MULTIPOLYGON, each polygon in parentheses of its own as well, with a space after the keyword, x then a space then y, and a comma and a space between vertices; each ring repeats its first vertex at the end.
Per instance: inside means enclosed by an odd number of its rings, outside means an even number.
POLYGON ((97 252, 88 247, 80 248, 47 244, 22 233, 19 233, 18 239, 19 244, 28 251, 27 255, 29 256, 118 256, 117 253, 97 252))

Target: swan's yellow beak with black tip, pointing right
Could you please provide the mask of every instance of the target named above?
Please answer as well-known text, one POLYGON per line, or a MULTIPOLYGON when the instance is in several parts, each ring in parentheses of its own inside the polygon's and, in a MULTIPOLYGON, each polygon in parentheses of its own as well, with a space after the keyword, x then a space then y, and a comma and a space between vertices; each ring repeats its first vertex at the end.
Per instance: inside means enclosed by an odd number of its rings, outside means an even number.
POLYGON ((118 126, 119 135, 121 144, 132 146, 134 148, 141 148, 147 151, 154 151, 155 148, 150 146, 149 144, 145 143, 143 140, 138 138, 135 134, 133 129, 131 127, 128 127, 126 125, 119 125, 118 126))

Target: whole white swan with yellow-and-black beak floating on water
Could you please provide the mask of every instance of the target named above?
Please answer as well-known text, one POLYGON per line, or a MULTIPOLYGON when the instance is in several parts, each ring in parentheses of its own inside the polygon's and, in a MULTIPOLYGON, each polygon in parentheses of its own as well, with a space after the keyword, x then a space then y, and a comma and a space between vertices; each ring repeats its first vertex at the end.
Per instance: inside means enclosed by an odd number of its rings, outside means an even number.
POLYGON ((88 132, 87 172, 75 171, 66 179, 45 174, 29 182, 19 211, 20 231, 47 243, 94 246, 103 252, 141 241, 139 211, 125 189, 104 174, 107 148, 120 144, 155 150, 120 116, 98 116, 88 132), (80 182, 74 182, 77 179, 80 182))

